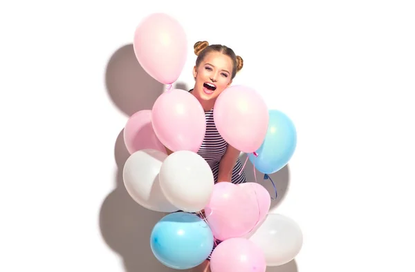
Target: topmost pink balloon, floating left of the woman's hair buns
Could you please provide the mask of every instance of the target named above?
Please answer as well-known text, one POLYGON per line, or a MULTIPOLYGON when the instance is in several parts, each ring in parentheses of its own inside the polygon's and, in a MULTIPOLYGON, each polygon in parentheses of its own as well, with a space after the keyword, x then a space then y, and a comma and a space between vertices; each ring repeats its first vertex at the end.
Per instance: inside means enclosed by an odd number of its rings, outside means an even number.
POLYGON ((136 28, 133 48, 138 62, 151 77, 172 84, 185 66, 187 37, 176 19, 154 13, 136 28))

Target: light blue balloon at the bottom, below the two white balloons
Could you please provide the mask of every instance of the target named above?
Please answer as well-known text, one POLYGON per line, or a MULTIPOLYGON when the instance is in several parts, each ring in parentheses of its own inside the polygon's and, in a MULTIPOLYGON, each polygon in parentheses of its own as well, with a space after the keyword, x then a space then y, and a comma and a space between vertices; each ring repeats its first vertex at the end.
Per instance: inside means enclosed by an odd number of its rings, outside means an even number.
POLYGON ((172 269, 191 269, 208 258, 214 237, 208 224, 192 213, 170 213, 151 231, 150 246, 157 260, 172 269))

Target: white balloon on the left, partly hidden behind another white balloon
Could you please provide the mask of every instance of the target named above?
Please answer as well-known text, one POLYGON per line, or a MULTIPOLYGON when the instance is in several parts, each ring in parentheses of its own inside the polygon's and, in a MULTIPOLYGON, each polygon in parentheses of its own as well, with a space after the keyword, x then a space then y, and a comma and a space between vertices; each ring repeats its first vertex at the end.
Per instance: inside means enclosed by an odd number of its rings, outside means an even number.
POLYGON ((172 213, 178 208, 166 199, 158 179, 166 158, 159 150, 138 150, 125 162, 122 178, 127 192, 138 204, 152 211, 172 213))

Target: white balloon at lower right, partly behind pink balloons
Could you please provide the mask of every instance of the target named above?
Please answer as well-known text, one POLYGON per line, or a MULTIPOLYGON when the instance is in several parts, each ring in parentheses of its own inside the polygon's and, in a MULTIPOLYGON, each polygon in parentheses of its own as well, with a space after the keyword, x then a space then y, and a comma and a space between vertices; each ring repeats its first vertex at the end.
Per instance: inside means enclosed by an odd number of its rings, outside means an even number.
POLYGON ((249 240, 264 251, 267 266, 280 266, 297 256, 302 248, 303 235, 291 218, 269 213, 249 240))

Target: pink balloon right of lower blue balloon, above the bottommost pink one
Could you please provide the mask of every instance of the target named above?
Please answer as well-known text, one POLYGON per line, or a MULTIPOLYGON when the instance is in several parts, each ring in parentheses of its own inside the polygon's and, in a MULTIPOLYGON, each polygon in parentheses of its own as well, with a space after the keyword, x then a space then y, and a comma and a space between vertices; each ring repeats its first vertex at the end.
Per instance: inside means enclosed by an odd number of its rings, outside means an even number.
POLYGON ((230 182, 214 184, 205 216, 216 239, 227 240, 249 233, 258 222, 255 197, 230 182))

